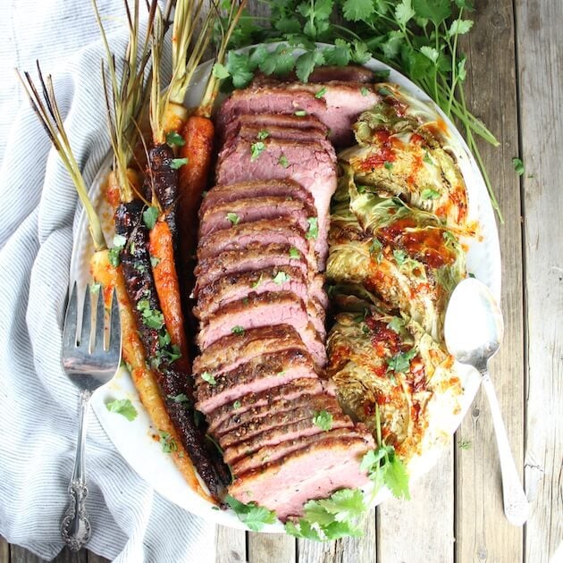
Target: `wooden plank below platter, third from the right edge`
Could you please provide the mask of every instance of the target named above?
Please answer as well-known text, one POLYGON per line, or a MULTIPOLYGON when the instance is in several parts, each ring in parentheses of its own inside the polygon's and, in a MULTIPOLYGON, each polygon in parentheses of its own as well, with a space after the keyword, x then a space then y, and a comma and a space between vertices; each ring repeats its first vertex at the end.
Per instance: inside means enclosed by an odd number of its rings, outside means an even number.
POLYGON ((411 500, 392 499, 378 508, 377 561, 453 561, 453 483, 450 447, 430 473, 412 484, 411 500))

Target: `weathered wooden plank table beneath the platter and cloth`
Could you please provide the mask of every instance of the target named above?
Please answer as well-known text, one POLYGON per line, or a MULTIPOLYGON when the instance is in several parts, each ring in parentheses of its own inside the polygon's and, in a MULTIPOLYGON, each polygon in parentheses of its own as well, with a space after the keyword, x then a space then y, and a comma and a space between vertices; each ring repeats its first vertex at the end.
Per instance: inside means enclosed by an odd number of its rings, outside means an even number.
MULTIPOLYGON (((563 561, 563 2, 477 0, 473 17, 465 45, 468 104, 500 140, 498 148, 481 148, 505 219, 499 231, 506 335, 492 374, 530 519, 517 528, 503 516, 492 421, 479 393, 412 500, 377 508, 363 539, 319 544, 221 527, 218 562, 563 561), (522 177, 514 156, 525 163, 522 177), (459 441, 470 448, 460 449, 459 441)), ((8 561, 38 559, 0 539, 0 563, 8 561)), ((105 559, 64 550, 55 561, 105 559)))

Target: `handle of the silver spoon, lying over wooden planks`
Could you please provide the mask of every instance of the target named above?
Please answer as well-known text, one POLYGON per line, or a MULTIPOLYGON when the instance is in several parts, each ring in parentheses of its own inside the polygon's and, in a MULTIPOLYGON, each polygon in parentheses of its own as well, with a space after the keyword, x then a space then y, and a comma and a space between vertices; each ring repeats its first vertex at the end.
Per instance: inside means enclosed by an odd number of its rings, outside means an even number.
POLYGON ((491 376, 487 369, 482 370, 481 373, 483 374, 483 387, 487 393, 487 399, 489 399, 489 405, 491 407, 492 425, 494 426, 494 433, 497 437, 497 447, 499 449, 504 514, 510 524, 523 525, 528 519, 528 500, 525 498, 524 488, 518 476, 512 451, 510 450, 507 429, 502 421, 499 400, 494 391, 491 376))

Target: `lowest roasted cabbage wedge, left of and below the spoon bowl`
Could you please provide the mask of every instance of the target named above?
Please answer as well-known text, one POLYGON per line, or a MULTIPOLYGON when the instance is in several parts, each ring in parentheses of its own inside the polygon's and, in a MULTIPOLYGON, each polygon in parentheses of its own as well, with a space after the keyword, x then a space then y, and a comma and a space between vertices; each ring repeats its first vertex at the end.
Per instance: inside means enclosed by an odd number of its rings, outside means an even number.
POLYGON ((427 433, 430 401, 439 397, 443 405, 447 391, 446 408, 457 408, 461 386, 452 357, 408 317, 340 294, 349 289, 335 290, 338 306, 349 310, 336 315, 328 338, 329 375, 342 407, 374 434, 379 407, 383 441, 408 462, 440 439, 427 433))

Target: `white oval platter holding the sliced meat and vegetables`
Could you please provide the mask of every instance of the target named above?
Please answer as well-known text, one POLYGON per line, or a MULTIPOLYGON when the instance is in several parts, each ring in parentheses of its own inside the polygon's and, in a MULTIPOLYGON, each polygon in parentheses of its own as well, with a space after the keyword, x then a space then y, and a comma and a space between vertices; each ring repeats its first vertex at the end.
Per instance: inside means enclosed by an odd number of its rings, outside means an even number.
MULTIPOLYGON (((275 48, 276 45, 270 44, 267 47, 275 48)), ((324 45, 319 44, 319 46, 324 45)), ((298 55, 298 52, 296 52, 296 55, 298 55)), ((475 219, 480 226, 479 236, 473 239, 469 245, 467 270, 486 283, 496 298, 500 298, 500 247, 494 213, 481 173, 464 139, 424 91, 417 88, 408 78, 375 59, 367 62, 366 67, 372 71, 390 71, 388 79, 390 82, 399 84, 399 86, 405 88, 421 102, 431 105, 441 115, 444 122, 447 123, 453 141, 452 146, 466 181, 469 217, 470 219, 475 219)), ((194 107, 198 105, 210 70, 211 63, 204 63, 197 69, 192 87, 189 88, 186 96, 186 106, 194 107)), ((109 172, 110 163, 110 159, 105 161, 89 192, 90 197, 104 218, 104 223, 108 225, 105 233, 108 242, 113 239, 113 232, 111 231, 111 226, 109 226, 111 224, 111 211, 104 203, 102 188, 109 172)), ((74 227, 75 242, 71 258, 71 281, 76 280, 80 285, 84 285, 90 281, 88 262, 89 257, 93 253, 93 247, 89 238, 86 214, 83 213, 81 207, 77 210, 74 227)), ((460 319, 460 322, 462 322, 462 319, 460 319)), ((458 373, 464 388, 464 394, 460 399, 460 410, 456 415, 442 411, 436 413, 433 415, 433 422, 431 422, 431 424, 439 425, 441 432, 447 435, 453 434, 458 428, 463 416, 465 416, 467 409, 475 398, 475 393, 480 383, 478 375, 470 368, 458 366, 458 373)), ((203 500, 189 488, 172 462, 172 458, 165 454, 160 443, 155 441, 154 436, 157 432, 151 425, 147 413, 139 401, 139 396, 129 373, 124 368, 119 370, 112 382, 94 394, 92 407, 100 424, 102 424, 105 432, 113 441, 115 448, 156 492, 181 508, 185 508, 198 516, 205 517, 216 524, 246 529, 246 526, 240 523, 234 512, 214 508, 213 505, 203 500), (139 416, 134 421, 129 422, 125 417, 109 412, 105 408, 105 402, 113 399, 130 399, 135 408, 137 408, 139 416)), ((416 487, 416 479, 433 468, 440 454, 441 448, 433 448, 433 450, 426 451, 424 455, 414 459, 409 464, 411 487, 416 487)), ((366 492, 366 494, 369 494, 369 492, 366 492)), ((390 493, 387 490, 382 490, 373 500, 374 504, 379 504, 389 496, 390 493)), ((266 525, 263 532, 282 533, 283 527, 279 523, 266 525)))

